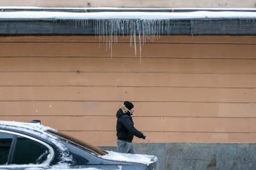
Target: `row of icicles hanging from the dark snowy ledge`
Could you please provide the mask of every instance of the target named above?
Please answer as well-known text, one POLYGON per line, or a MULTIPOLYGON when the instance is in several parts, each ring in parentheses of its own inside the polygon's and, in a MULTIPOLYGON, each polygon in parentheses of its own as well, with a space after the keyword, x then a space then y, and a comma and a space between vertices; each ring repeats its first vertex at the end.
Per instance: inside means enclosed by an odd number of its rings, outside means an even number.
POLYGON ((160 38, 160 35, 170 35, 172 26, 181 25, 180 21, 175 20, 139 20, 139 19, 100 19, 100 20, 76 20, 76 26, 91 26, 95 35, 99 37, 99 42, 106 42, 106 50, 111 50, 112 44, 118 42, 120 35, 128 36, 130 47, 132 44, 137 56, 137 45, 139 45, 139 58, 141 62, 141 45, 146 41, 153 42, 160 38), (108 35, 108 36, 106 36, 108 35), (138 38, 138 40, 136 40, 138 38), (138 44, 137 44, 138 43, 138 44))

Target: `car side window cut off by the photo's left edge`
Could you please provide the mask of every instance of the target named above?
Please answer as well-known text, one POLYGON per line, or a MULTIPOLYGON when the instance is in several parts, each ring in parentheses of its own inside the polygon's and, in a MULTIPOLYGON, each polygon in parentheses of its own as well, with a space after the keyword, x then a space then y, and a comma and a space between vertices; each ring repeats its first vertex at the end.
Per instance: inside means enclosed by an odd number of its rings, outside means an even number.
POLYGON ((8 162, 12 140, 13 135, 0 132, 0 165, 5 165, 8 162))

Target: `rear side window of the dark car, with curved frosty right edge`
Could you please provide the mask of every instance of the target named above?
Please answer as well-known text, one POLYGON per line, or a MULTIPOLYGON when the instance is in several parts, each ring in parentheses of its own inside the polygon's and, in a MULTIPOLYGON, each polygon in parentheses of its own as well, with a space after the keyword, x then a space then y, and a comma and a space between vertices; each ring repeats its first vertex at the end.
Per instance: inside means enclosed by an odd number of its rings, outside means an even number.
POLYGON ((41 164, 47 159, 49 150, 43 144, 22 136, 17 136, 11 164, 41 164))

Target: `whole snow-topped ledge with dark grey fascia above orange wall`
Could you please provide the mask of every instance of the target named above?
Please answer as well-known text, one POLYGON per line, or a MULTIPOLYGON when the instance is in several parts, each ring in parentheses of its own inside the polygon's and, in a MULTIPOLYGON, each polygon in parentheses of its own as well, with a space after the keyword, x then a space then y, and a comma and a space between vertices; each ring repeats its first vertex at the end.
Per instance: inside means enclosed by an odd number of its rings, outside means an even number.
POLYGON ((256 9, 0 7, 0 23, 0 35, 255 35, 256 9))

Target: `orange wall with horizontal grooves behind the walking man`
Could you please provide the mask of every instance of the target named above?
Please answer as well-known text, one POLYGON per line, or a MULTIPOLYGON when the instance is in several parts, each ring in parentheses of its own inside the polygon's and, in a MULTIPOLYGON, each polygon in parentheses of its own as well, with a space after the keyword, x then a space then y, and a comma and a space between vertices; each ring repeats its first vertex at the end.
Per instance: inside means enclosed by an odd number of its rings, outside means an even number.
MULTIPOLYGON (((0 120, 40 119, 84 141, 115 145, 115 113, 153 142, 256 142, 256 38, 0 37, 0 120)), ((143 142, 135 139, 135 142, 143 142)))

